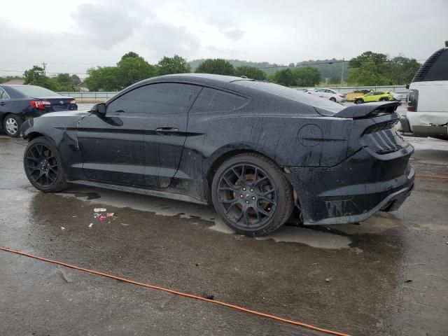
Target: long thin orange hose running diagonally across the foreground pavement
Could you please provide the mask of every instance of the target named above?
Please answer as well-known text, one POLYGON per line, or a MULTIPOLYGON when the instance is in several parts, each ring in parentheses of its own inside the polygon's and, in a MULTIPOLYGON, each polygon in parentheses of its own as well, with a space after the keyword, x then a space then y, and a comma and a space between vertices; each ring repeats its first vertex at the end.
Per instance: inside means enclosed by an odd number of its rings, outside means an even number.
POLYGON ((138 281, 134 281, 134 280, 130 280, 130 279, 125 279, 125 278, 122 278, 120 276, 115 276, 115 275, 112 275, 112 274, 98 272, 98 271, 94 271, 93 269, 87 269, 87 268, 83 268, 83 267, 78 267, 76 265, 70 265, 70 264, 67 264, 66 262, 61 262, 61 261, 58 261, 58 260, 52 260, 52 259, 48 259, 48 258, 39 257, 37 255, 32 255, 32 254, 29 254, 29 253, 26 253, 26 252, 12 250, 10 248, 6 248, 6 247, 2 247, 2 246, 0 246, 0 250, 1 251, 6 251, 6 252, 10 252, 10 253, 19 254, 19 255, 25 255, 26 257, 29 257, 29 258, 34 258, 34 259, 37 259, 37 260, 51 262, 52 264, 62 265, 64 267, 69 267, 69 268, 72 268, 72 269, 78 269, 79 271, 83 271, 83 272, 87 272, 87 273, 91 273, 91 274, 106 276, 106 278, 115 279, 115 280, 123 281, 123 282, 126 282, 126 283, 132 283, 133 285, 137 285, 137 286, 143 286, 143 287, 146 287, 146 288, 162 290, 164 292, 172 293, 174 295, 181 295, 183 297, 190 297, 191 299, 196 299, 196 300, 211 302, 211 303, 214 303, 214 304, 219 304, 221 306, 232 308, 232 309, 237 309, 239 311, 244 311, 244 312, 249 313, 249 314, 262 316, 262 317, 266 317, 266 318, 272 318, 273 320, 280 321, 280 322, 283 322, 283 323, 290 323, 290 324, 293 324, 293 325, 300 325, 301 327, 308 328, 308 329, 311 329, 311 330, 325 332, 326 334, 329 334, 329 335, 349 336, 349 335, 344 334, 342 332, 337 332, 337 331, 332 331, 332 330, 328 330, 328 329, 324 329, 324 328, 319 328, 319 327, 316 327, 314 325, 310 325, 310 324, 307 324, 307 323, 302 323, 302 322, 299 322, 299 321, 289 320, 287 318, 281 318, 281 317, 275 316, 275 315, 261 313, 260 311, 255 311, 255 310, 252 310, 252 309, 239 307, 239 306, 237 306, 235 304, 230 304, 230 303, 217 301, 217 300, 211 300, 211 299, 207 299, 205 297, 197 296, 197 295, 194 295, 194 294, 183 293, 183 292, 179 292, 177 290, 172 290, 172 289, 165 288, 165 287, 154 286, 154 285, 150 285, 148 283, 143 283, 143 282, 138 282, 138 281))

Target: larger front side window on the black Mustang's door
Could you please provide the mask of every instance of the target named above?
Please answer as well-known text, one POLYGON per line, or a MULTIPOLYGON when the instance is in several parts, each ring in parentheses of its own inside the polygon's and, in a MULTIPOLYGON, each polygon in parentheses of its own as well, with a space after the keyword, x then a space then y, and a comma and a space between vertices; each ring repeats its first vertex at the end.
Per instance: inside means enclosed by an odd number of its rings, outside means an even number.
POLYGON ((201 87, 182 83, 155 83, 137 87, 113 100, 108 113, 187 113, 201 87))

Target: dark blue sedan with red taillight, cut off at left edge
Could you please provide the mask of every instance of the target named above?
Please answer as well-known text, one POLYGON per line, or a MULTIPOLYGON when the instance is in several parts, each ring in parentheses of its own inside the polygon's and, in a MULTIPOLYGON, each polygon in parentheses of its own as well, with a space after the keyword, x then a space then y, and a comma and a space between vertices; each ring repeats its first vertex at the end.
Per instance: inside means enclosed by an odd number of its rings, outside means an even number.
POLYGON ((55 111, 77 110, 75 99, 34 85, 0 84, 0 127, 10 137, 20 135, 20 125, 29 118, 55 111))

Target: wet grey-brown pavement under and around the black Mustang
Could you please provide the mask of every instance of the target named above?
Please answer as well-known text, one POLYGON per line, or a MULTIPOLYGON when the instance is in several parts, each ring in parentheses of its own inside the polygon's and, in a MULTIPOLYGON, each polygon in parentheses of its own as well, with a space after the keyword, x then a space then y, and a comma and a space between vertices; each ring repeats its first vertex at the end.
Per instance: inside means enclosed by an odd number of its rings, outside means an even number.
MULTIPOLYGON (((448 176, 448 141, 409 141, 416 174, 448 176)), ((40 193, 25 146, 0 136, 0 246, 352 335, 448 334, 448 179, 417 178, 399 211, 360 225, 254 239, 211 207, 40 193), (94 218, 95 207, 115 216, 94 218)), ((0 335, 324 334, 0 251, 0 335)))

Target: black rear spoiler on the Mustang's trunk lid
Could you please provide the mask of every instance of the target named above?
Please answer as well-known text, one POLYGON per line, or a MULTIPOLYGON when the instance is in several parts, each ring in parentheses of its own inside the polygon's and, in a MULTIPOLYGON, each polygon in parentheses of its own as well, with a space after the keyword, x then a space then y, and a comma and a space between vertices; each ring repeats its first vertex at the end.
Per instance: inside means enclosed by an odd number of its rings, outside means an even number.
MULTIPOLYGON (((339 111, 336 114, 333 114, 332 116, 335 118, 351 118, 351 119, 370 118, 393 113, 397 109, 398 105, 400 105, 399 102, 358 104, 346 107, 342 111, 339 111)), ((319 114, 323 116, 329 115, 328 111, 322 111, 321 109, 317 108, 316 110, 318 111, 319 114)))

